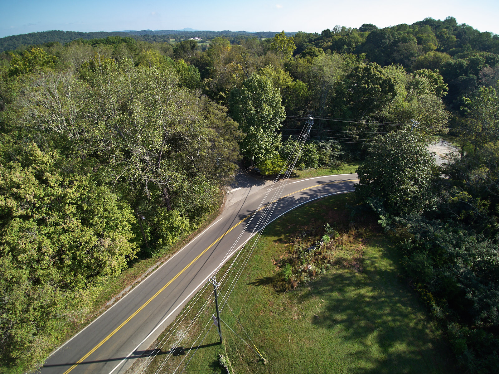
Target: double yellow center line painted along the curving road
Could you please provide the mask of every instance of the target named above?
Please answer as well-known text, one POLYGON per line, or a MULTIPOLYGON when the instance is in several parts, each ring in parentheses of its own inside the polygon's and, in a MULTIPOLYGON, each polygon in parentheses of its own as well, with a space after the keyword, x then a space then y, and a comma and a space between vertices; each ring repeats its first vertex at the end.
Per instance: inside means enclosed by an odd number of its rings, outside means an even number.
MULTIPOLYGON (((328 184, 333 184, 333 183, 342 183, 342 182, 354 182, 354 181, 358 181, 358 179, 349 179, 349 180, 343 180, 343 181, 336 181, 336 182, 329 182, 329 183, 323 183, 323 184, 316 184, 315 186, 311 186, 311 187, 306 187, 306 188, 302 188, 301 190, 298 190, 298 191, 294 191, 294 192, 291 192, 287 195, 284 195, 284 196, 281 196, 280 198, 272 201, 271 203, 269 204, 272 204, 272 203, 275 203, 276 201, 280 200, 280 199, 283 199, 285 197, 288 197, 290 195, 293 195, 297 192, 301 192, 301 191, 305 191, 305 190, 309 190, 311 188, 314 188, 314 187, 319 187, 319 186, 325 186, 325 185, 328 185, 328 184)), ((269 205, 267 204, 267 205, 269 205)), ((235 224, 233 227, 231 227, 229 230, 227 230, 224 234, 222 234, 217 240, 215 240, 207 249, 205 249, 203 252, 201 252, 194 260, 192 260, 189 265, 187 265, 184 269, 182 269, 175 277, 173 277, 166 285, 164 285, 158 292, 156 292, 147 302, 145 302, 139 309, 137 309, 130 317, 128 317, 120 326, 118 326, 116 329, 114 329, 114 331, 109 334, 107 337, 105 337, 98 345, 96 345, 94 348, 92 348, 91 351, 89 351, 85 356, 83 356, 81 359, 79 359, 73 366, 71 366, 68 370, 66 370, 63 374, 67 374, 69 373, 70 371, 72 371, 74 368, 76 368, 79 364, 81 364, 84 360, 86 360, 88 358, 88 356, 90 356, 92 353, 94 353, 100 346, 102 346, 104 343, 106 343, 114 334, 116 334, 123 326, 125 326, 132 318, 134 318, 142 309, 144 309, 151 301, 153 301, 156 296, 158 296, 159 294, 161 294, 165 288, 167 288, 168 286, 170 286, 170 284, 175 281, 178 277, 180 277, 180 275, 182 273, 184 273, 187 269, 189 269, 189 267, 194 264, 196 261, 198 261, 198 259, 203 256, 210 248, 212 248, 218 241, 220 241, 224 236, 226 236, 227 234, 229 234, 232 230, 234 230, 237 226, 239 226, 241 223, 243 223, 244 221, 246 221, 248 218, 250 218, 253 214, 256 214, 256 212, 262 210, 263 208, 265 208, 267 205, 263 205, 262 207, 260 207, 257 211, 251 213, 250 215, 248 215, 247 217, 245 217, 244 219, 242 219, 241 221, 239 221, 237 224, 235 224)))

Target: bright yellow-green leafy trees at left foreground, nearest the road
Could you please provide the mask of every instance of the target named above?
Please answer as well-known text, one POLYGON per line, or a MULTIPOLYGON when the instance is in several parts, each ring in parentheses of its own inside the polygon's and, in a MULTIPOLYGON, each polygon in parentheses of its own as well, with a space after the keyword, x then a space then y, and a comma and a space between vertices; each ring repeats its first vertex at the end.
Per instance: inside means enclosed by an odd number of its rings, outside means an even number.
POLYGON ((1 156, 1 360, 11 364, 43 358, 137 246, 130 205, 78 164, 34 143, 16 161, 1 156))

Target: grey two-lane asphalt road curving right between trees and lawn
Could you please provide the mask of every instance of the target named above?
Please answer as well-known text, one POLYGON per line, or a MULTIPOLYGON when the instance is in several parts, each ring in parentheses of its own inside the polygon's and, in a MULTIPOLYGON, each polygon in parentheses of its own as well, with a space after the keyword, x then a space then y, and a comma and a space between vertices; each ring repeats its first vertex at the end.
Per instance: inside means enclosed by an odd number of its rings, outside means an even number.
MULTIPOLYGON (((282 187, 282 198, 271 219, 313 199, 352 191, 356 178, 356 174, 347 174, 290 181, 282 187)), ((230 204, 211 226, 52 353, 41 373, 124 373, 174 321, 224 258, 260 228, 256 223, 264 210, 256 210, 261 203, 275 200, 276 190, 277 185, 271 189, 264 182, 235 189, 228 196, 230 204)))

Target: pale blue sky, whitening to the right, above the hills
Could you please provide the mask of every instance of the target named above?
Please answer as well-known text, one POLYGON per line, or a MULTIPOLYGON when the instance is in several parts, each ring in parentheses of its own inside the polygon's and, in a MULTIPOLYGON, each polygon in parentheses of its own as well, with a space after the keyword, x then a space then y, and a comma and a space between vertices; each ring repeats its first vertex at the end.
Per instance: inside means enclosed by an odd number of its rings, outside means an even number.
POLYGON ((498 0, 0 0, 0 37, 27 32, 179 30, 320 32, 453 16, 499 34, 498 0))

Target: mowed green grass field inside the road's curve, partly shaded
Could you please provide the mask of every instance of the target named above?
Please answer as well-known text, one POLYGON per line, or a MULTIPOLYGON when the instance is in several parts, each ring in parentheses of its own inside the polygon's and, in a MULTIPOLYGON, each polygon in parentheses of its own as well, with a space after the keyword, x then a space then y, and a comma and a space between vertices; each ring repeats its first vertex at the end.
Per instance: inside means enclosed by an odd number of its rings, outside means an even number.
MULTIPOLYGON (((203 341, 196 341, 205 335, 207 322, 213 325, 213 287, 207 287, 203 297, 211 299, 202 327, 187 330, 199 310, 195 307, 174 334, 178 338, 187 332, 179 346, 191 348, 170 357, 176 342, 160 345, 146 372, 155 373, 169 358, 160 373, 173 373, 177 367, 177 373, 227 373, 219 364, 222 354, 231 362, 231 373, 238 374, 454 373, 446 343, 401 276, 396 248, 372 223, 373 217, 351 223, 351 201, 351 194, 324 198, 269 225, 229 298, 230 308, 221 312, 224 343, 218 344, 214 327, 203 341), (308 282, 290 288, 279 272, 292 262, 293 243, 315 242, 326 223, 340 234, 331 249, 317 255, 328 259, 329 266, 316 264, 308 282)), ((296 279, 300 266, 293 263, 296 279)), ((225 269, 217 278, 223 273, 225 269)), ((221 299, 226 291, 221 288, 221 299)))

